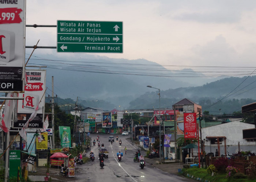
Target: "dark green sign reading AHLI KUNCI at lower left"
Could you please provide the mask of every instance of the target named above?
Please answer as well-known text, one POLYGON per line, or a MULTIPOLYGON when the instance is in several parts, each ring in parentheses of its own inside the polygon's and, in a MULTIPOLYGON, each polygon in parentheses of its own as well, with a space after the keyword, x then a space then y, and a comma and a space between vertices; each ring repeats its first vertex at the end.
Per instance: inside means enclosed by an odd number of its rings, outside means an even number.
POLYGON ((20 150, 10 150, 9 152, 9 177, 17 177, 19 171, 19 177, 22 177, 22 171, 20 167, 20 150))

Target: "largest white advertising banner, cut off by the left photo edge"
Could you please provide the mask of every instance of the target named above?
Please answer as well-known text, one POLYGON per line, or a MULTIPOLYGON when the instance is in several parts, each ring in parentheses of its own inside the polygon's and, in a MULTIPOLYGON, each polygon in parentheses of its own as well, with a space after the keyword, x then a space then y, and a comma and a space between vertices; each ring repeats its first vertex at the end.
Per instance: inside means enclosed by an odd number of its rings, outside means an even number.
POLYGON ((24 91, 25 4, 0 1, 0 92, 24 91))

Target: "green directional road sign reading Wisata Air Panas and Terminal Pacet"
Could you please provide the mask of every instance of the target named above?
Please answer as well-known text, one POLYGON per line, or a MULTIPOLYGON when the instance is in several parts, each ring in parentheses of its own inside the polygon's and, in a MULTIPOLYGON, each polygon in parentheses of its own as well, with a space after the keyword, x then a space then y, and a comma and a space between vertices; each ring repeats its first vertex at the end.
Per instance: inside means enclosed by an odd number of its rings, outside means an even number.
POLYGON ((57 20, 57 52, 123 53, 123 22, 57 20))

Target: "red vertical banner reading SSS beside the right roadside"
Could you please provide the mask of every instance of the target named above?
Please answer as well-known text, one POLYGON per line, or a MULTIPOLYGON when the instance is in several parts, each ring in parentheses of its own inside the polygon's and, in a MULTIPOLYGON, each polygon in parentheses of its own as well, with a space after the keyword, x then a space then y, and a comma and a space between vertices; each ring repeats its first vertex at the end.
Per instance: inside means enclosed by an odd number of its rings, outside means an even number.
POLYGON ((184 138, 196 138, 196 113, 184 113, 184 138))

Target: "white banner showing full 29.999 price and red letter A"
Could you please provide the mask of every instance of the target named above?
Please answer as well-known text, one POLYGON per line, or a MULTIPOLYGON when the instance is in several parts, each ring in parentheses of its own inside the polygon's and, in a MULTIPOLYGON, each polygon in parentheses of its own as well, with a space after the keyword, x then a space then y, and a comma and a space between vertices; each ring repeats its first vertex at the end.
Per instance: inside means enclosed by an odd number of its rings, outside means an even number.
POLYGON ((14 122, 14 128, 22 128, 35 111, 38 105, 38 111, 35 118, 29 122, 28 128, 44 128, 44 111, 45 105, 45 79, 46 70, 26 70, 27 84, 25 92, 19 93, 18 97, 24 97, 24 100, 18 100, 18 120, 14 122))

